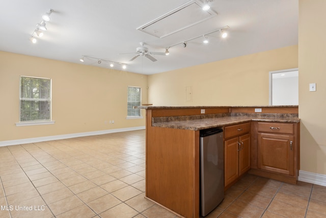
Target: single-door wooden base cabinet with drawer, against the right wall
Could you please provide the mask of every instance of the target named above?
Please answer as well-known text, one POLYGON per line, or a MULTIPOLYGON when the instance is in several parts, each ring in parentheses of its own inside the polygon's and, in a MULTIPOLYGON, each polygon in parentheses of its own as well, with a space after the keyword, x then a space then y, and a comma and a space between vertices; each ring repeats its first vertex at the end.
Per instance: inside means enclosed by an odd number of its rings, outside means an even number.
MULTIPOLYGON (((300 123, 268 123, 253 122, 256 127, 257 145, 256 158, 251 170, 256 175, 280 181, 296 183, 299 168, 299 137, 300 123)), ((255 141, 255 140, 254 140, 255 141)), ((255 148, 256 147, 256 148, 255 148)))

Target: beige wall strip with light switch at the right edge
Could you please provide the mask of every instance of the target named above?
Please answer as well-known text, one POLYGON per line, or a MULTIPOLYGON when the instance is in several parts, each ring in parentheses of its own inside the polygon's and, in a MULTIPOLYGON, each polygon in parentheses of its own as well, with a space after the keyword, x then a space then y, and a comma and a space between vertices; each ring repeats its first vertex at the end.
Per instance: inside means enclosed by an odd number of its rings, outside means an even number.
POLYGON ((299 1, 299 115, 301 169, 326 175, 325 0, 299 1), (316 83, 316 92, 309 91, 316 83))

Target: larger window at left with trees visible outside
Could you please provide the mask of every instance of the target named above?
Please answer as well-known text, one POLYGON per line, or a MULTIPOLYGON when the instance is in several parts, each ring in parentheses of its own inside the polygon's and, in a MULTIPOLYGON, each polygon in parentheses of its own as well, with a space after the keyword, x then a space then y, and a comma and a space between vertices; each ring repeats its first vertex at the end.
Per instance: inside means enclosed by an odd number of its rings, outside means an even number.
POLYGON ((20 122, 51 119, 51 79, 20 77, 20 122))

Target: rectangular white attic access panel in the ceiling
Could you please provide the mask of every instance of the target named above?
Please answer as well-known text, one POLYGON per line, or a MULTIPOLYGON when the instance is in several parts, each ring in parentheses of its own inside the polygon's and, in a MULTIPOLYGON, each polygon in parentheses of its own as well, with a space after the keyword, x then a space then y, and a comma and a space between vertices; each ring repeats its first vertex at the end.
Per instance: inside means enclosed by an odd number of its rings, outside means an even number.
POLYGON ((137 30, 158 38, 164 38, 218 15, 211 9, 204 11, 202 5, 203 3, 198 0, 189 1, 137 28, 137 30))

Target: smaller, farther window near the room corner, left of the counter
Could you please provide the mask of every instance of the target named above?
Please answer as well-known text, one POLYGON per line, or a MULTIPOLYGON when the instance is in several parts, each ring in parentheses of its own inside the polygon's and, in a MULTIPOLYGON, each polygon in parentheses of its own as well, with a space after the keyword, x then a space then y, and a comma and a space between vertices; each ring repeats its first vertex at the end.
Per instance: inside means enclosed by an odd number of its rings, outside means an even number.
POLYGON ((141 117, 141 109, 134 108, 140 106, 142 101, 142 90, 140 87, 128 86, 128 107, 127 117, 141 117))

